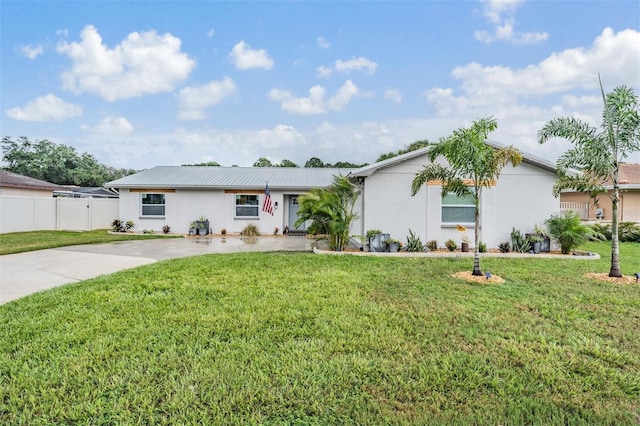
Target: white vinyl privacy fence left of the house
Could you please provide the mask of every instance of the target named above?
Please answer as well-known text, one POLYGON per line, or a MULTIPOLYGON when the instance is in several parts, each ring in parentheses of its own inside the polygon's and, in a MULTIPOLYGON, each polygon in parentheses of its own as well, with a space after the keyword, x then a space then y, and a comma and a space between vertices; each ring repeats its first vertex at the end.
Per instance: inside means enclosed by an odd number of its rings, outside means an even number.
POLYGON ((0 234, 106 229, 118 217, 118 199, 0 196, 0 234))

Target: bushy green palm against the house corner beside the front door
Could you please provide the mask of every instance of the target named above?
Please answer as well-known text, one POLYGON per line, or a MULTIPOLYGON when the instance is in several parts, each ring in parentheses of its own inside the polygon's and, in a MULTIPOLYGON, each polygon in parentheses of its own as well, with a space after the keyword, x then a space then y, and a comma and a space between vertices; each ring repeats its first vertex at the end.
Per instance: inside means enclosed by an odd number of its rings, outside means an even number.
POLYGON ((345 176, 334 176, 327 188, 314 188, 298 198, 300 209, 295 226, 307 220, 317 233, 327 234, 331 250, 344 250, 349 243, 351 223, 359 192, 345 176))

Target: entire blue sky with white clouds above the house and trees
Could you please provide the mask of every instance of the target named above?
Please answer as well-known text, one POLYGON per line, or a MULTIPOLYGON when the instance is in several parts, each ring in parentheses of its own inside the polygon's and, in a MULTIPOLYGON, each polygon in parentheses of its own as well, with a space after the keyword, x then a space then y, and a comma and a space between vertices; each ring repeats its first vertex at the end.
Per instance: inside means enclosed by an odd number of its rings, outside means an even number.
MULTIPOLYGON (((640 93, 640 2, 0 2, 3 136, 115 167, 373 162, 493 115, 554 161, 549 118, 640 93)), ((640 162, 636 155, 634 161, 640 162)))

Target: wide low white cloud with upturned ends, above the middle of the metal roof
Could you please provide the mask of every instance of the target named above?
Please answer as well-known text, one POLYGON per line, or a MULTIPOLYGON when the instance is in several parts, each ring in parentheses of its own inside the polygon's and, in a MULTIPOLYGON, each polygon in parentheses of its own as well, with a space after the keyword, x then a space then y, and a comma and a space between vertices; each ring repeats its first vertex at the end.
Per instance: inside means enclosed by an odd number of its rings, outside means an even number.
POLYGON ((331 98, 325 99, 325 94, 324 87, 313 86, 309 89, 309 96, 306 98, 297 98, 291 92, 278 89, 271 90, 269 97, 281 102, 284 111, 292 114, 315 115, 340 111, 354 96, 358 95, 358 88, 351 80, 347 80, 331 98))

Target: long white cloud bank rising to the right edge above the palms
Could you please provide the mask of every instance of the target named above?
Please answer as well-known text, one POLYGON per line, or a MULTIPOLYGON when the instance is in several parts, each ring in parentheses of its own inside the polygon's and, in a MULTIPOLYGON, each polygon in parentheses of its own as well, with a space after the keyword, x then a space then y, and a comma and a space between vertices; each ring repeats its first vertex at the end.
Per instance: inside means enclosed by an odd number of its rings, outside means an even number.
POLYGON ((464 95, 456 97, 452 89, 434 88, 426 96, 441 113, 448 114, 514 103, 528 96, 595 90, 598 73, 605 87, 640 86, 640 32, 614 33, 606 28, 588 49, 567 49, 520 69, 478 63, 456 67, 451 74, 461 81, 464 95))

